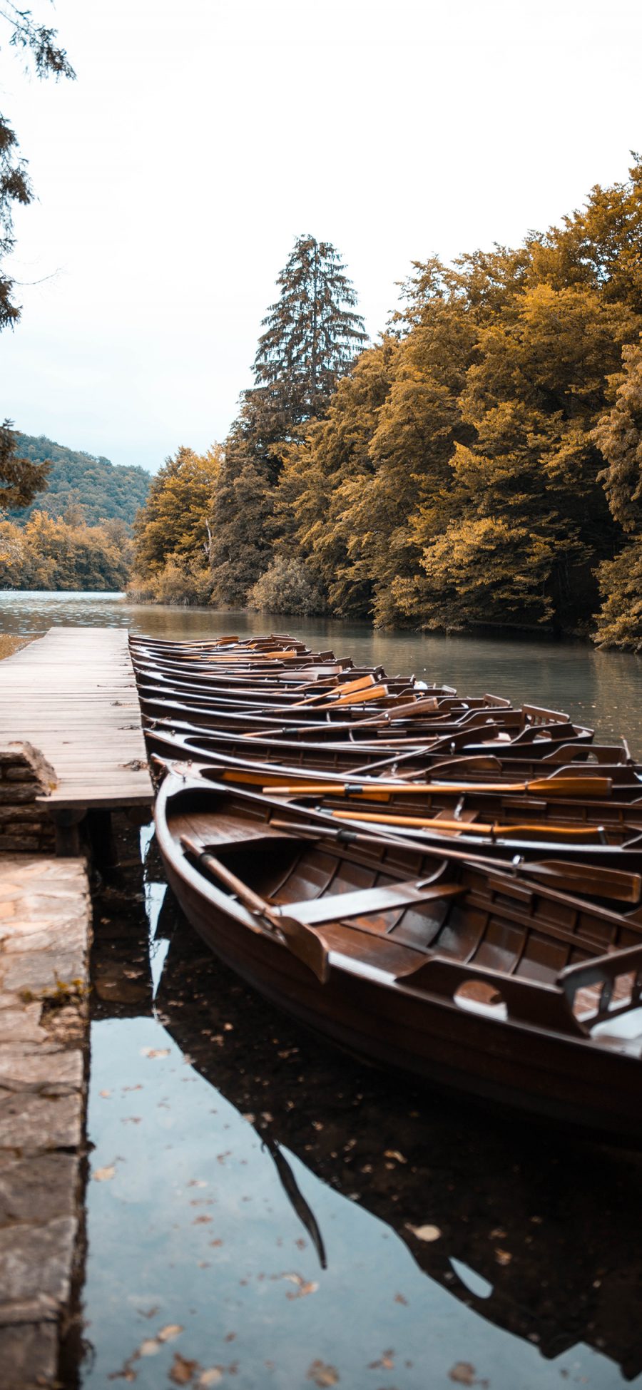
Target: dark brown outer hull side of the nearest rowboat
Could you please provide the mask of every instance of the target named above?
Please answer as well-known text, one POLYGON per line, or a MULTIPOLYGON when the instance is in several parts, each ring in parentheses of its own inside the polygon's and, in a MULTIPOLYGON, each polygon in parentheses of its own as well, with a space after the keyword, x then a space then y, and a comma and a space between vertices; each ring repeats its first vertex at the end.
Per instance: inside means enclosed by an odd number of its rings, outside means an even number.
MULTIPOLYGON (((163 853, 163 845, 161 845, 163 853)), ((370 1062, 593 1137, 642 1145, 639 1062, 591 1040, 495 1020, 445 997, 331 965, 321 984, 286 947, 206 901, 163 853, 168 881, 217 956, 277 1008, 370 1062)), ((221 897, 224 897, 221 894, 221 897)))

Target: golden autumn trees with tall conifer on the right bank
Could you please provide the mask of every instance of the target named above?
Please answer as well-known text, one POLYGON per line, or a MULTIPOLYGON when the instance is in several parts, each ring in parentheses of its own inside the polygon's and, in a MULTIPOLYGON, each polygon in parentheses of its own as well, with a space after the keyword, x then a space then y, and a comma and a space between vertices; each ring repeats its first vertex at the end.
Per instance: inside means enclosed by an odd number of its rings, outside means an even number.
POLYGON ((642 649, 642 161, 517 249, 413 264, 381 338, 299 238, 222 446, 135 523, 132 592, 642 649))

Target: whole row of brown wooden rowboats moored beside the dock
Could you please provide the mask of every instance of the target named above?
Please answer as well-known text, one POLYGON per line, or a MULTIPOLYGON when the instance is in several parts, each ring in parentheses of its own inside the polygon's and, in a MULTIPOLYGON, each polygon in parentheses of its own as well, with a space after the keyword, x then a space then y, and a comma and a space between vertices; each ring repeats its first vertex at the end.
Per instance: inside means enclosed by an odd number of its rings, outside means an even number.
POLYGON ((642 767, 288 634, 131 638, 168 880, 353 1052, 638 1144, 642 767))

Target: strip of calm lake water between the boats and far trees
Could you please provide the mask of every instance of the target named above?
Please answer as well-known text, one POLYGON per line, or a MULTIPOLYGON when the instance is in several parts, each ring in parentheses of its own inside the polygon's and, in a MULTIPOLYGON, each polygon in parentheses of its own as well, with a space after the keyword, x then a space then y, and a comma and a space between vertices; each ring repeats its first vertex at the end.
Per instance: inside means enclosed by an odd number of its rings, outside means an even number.
POLYGON ((414 671, 460 694, 491 691, 513 701, 567 709, 600 739, 628 738, 642 758, 642 659, 596 652, 584 644, 509 638, 372 632, 364 623, 285 619, 213 609, 135 607, 113 594, 0 594, 0 631, 46 632, 56 623, 129 627, 154 637, 201 638, 217 632, 292 630, 311 646, 414 671))

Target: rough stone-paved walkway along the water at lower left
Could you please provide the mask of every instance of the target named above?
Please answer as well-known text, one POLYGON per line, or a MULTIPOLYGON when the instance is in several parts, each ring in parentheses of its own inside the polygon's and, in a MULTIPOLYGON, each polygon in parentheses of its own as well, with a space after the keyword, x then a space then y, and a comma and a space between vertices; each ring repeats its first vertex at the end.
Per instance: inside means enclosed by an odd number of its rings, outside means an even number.
POLYGON ((64 1383, 82 1262, 89 941, 85 860, 0 856, 3 1390, 64 1383))

